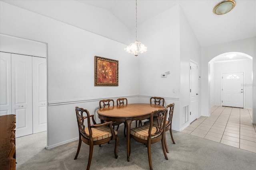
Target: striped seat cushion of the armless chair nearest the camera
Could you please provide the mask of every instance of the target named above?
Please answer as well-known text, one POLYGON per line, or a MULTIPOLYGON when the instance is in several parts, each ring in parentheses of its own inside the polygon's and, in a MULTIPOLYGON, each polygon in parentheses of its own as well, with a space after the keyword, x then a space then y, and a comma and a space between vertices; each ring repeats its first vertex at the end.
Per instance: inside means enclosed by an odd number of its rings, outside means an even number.
MULTIPOLYGON (((130 134, 135 137, 138 137, 140 139, 147 140, 148 139, 148 130, 149 130, 149 124, 146 124, 146 125, 143 125, 140 127, 135 127, 133 129, 131 129, 130 134)), ((153 133, 156 133, 156 127, 152 127, 151 134, 153 134, 153 133)), ((159 134, 159 135, 161 135, 161 134, 159 134)), ((151 139, 158 137, 159 135, 152 136, 151 139)))

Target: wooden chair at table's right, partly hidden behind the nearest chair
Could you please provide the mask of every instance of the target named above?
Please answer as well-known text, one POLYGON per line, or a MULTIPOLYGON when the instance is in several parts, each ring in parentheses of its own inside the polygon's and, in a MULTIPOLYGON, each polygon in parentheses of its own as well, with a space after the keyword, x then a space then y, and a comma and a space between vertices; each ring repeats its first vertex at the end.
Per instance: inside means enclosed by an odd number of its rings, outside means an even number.
MULTIPOLYGON (((168 110, 168 119, 166 118, 166 126, 165 126, 165 131, 170 131, 170 135, 171 135, 171 138, 172 138, 172 143, 175 144, 174 142, 174 139, 173 139, 173 136, 172 136, 172 116, 173 116, 173 110, 174 110, 174 103, 172 104, 168 104, 165 108, 168 110)), ((150 121, 146 121, 144 122, 144 125, 145 124, 149 124, 150 121)), ((156 125, 157 124, 157 119, 154 118, 153 120, 153 124, 156 125)), ((166 149, 166 152, 169 153, 169 150, 168 150, 168 147, 167 147, 167 143, 166 143, 166 135, 164 135, 164 143, 165 143, 165 149, 166 149)))

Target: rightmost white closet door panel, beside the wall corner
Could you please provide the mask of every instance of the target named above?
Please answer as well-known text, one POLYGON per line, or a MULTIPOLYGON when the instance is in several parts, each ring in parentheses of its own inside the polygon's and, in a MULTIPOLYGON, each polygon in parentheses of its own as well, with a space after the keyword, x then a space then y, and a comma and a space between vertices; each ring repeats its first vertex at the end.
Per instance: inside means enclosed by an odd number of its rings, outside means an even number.
POLYGON ((32 58, 33 67, 33 133, 46 131, 46 59, 32 58))

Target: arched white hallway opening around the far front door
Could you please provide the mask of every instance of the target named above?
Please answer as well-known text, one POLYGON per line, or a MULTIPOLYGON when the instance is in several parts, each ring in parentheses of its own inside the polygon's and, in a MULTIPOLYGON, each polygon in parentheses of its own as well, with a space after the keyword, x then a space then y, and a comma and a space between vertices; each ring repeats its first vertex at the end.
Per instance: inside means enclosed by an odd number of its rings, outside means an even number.
MULTIPOLYGON (((253 62, 252 57, 239 52, 229 52, 220 54, 214 59, 212 59, 209 63, 209 87, 210 87, 210 96, 209 107, 213 106, 222 106, 223 104, 223 96, 222 96, 222 75, 225 73, 228 75, 232 75, 232 73, 243 73, 244 80, 243 83, 240 83, 242 92, 243 92, 243 107, 252 109, 253 104, 253 80, 252 80, 252 72, 253 72, 253 62)), ((236 107, 236 106, 234 106, 236 107)))

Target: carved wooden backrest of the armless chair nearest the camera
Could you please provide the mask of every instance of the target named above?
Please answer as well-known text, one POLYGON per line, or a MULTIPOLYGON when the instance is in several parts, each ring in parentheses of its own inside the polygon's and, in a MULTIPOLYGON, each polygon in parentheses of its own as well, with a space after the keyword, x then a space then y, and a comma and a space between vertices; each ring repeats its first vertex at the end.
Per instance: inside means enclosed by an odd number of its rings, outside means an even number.
POLYGON ((148 130, 148 139, 152 139, 154 136, 159 136, 162 133, 165 132, 165 126, 166 126, 166 117, 167 117, 167 108, 159 109, 152 111, 150 115, 150 126, 148 130), (156 122, 153 123, 154 119, 156 122), (152 129, 156 129, 154 133, 152 133, 152 129))

